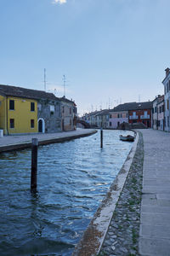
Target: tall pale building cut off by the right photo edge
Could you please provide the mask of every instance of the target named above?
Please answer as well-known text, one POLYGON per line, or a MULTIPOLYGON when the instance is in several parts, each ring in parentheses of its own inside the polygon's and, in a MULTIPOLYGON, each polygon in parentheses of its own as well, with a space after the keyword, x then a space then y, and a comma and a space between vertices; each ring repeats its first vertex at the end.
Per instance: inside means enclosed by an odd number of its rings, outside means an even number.
POLYGON ((165 116, 164 116, 164 129, 170 131, 170 69, 167 67, 165 70, 166 77, 163 79, 162 84, 164 85, 164 102, 165 102, 165 116))

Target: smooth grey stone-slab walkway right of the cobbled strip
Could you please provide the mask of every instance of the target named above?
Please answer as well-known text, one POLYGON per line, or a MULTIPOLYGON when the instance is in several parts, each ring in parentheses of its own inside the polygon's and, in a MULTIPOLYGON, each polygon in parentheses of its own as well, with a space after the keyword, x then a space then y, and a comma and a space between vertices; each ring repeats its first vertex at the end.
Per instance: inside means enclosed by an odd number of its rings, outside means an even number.
POLYGON ((170 133, 143 130, 144 178, 139 253, 170 255, 170 133))

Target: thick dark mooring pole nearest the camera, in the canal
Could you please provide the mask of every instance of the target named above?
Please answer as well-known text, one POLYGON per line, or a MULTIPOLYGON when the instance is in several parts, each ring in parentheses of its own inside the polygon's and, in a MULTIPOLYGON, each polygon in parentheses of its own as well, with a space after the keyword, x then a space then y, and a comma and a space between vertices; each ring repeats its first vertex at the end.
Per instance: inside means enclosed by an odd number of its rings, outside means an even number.
POLYGON ((37 138, 32 138, 31 144, 31 190, 37 189, 37 138))

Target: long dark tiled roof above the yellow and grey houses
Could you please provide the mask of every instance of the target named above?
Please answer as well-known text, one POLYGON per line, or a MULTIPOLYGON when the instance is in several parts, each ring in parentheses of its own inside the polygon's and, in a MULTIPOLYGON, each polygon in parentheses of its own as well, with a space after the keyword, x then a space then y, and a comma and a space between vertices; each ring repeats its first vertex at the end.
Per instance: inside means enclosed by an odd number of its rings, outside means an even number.
POLYGON ((43 90, 32 90, 22 87, 0 84, 0 94, 5 96, 16 96, 30 99, 48 99, 59 100, 53 93, 45 92, 43 90))

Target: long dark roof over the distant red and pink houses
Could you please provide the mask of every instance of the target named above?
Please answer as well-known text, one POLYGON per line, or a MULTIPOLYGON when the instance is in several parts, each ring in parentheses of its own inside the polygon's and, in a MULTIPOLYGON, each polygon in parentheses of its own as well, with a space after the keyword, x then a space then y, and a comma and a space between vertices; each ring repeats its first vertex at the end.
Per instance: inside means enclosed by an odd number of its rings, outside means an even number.
POLYGON ((110 111, 117 112, 117 111, 128 111, 128 110, 140 110, 140 109, 152 108, 152 106, 153 106, 152 102, 128 102, 128 103, 120 104, 110 111))

